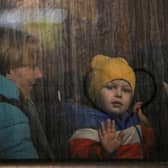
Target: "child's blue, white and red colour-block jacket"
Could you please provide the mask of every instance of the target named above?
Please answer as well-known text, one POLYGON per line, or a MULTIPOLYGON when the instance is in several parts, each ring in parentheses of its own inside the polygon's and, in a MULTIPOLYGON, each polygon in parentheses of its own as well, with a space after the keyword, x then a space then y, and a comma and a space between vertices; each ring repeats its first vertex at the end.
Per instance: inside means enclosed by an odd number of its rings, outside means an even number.
POLYGON ((123 131, 121 146, 116 150, 117 159, 143 159, 149 155, 152 144, 153 130, 140 124, 134 113, 127 111, 116 115, 104 113, 95 108, 84 105, 66 103, 64 105, 65 118, 71 132, 69 149, 72 158, 90 159, 96 156, 102 159, 97 129, 101 121, 115 120, 116 131, 123 131), (85 129, 86 128, 86 129, 85 129), (89 128, 89 129, 87 129, 89 128))

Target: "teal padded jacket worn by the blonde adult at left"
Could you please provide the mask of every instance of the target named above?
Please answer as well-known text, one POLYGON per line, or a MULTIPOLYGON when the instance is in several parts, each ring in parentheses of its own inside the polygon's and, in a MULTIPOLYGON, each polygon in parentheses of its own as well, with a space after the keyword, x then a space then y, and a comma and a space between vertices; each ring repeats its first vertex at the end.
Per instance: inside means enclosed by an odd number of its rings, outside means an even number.
MULTIPOLYGON (((16 85, 0 75, 0 94, 19 100, 16 85)), ((0 102, 0 159, 38 159, 27 116, 16 106, 0 102)))

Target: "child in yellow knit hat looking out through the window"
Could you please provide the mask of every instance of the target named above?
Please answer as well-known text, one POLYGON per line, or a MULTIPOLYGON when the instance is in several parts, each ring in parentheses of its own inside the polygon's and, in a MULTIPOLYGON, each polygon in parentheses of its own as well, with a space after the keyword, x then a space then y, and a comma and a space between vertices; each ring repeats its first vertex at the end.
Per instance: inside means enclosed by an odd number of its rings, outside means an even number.
POLYGON ((135 91, 135 73, 124 58, 97 55, 89 75, 88 96, 95 108, 88 111, 86 123, 69 140, 73 159, 148 158, 153 131, 135 105, 128 113, 135 91), (89 123, 89 124, 88 124, 89 123), (98 123, 98 124, 95 124, 98 123))

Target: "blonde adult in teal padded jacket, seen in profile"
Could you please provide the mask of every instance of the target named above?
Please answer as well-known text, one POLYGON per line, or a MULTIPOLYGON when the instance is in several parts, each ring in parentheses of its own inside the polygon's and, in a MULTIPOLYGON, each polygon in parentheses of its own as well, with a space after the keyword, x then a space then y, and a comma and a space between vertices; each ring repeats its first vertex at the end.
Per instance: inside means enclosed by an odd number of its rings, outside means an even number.
POLYGON ((41 59, 38 39, 0 28, 0 159, 53 158, 31 100, 41 59))

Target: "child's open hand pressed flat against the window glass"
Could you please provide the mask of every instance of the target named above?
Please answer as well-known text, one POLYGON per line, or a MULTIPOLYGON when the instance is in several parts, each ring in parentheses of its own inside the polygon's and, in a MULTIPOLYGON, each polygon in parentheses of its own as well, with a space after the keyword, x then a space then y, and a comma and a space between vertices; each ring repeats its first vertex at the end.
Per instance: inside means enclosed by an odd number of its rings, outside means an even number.
POLYGON ((118 135, 116 134, 115 121, 111 121, 110 119, 107 120, 107 127, 105 127, 104 122, 101 122, 98 133, 102 146, 109 153, 115 151, 121 145, 124 135, 122 132, 118 135))

